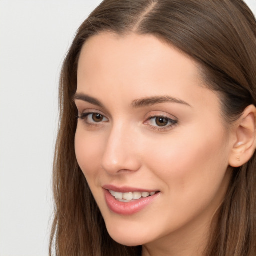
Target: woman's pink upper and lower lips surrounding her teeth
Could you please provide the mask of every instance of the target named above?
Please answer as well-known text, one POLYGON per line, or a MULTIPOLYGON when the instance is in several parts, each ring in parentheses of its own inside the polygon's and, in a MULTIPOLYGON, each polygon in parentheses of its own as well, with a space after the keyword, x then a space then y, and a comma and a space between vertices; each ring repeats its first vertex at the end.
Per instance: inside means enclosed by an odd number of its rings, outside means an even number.
POLYGON ((128 187, 121 187, 116 188, 111 185, 104 186, 104 195, 105 200, 108 208, 113 211, 114 213, 120 214, 120 215, 131 215, 134 213, 139 212, 143 208, 145 208, 148 204, 150 204, 156 197, 158 197, 159 193, 155 193, 154 195, 148 196, 148 197, 141 197, 140 199, 131 200, 130 202, 120 202, 112 196, 108 190, 113 190, 116 192, 151 192, 148 190, 141 190, 137 188, 128 188, 128 187), (108 187, 108 188, 105 188, 108 187), (109 188, 111 187, 111 188, 109 188))

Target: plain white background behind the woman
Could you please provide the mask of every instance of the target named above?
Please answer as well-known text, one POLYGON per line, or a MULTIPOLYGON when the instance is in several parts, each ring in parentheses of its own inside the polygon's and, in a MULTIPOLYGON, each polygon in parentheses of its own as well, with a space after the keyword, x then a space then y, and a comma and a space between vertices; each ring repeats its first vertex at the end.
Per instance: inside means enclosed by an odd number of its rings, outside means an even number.
POLYGON ((0 256, 48 255, 59 71, 100 1, 0 0, 0 256))

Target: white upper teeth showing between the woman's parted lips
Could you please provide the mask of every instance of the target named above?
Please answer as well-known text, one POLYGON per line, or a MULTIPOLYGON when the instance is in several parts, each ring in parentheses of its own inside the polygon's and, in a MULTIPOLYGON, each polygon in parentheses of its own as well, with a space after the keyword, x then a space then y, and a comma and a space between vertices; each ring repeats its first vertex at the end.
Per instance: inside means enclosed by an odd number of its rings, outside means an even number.
POLYGON ((120 202, 131 202, 133 200, 138 200, 141 197, 145 198, 151 195, 154 195, 158 191, 153 191, 153 192, 126 192, 126 193, 121 193, 121 192, 115 192, 113 190, 108 190, 109 193, 117 200, 120 202))

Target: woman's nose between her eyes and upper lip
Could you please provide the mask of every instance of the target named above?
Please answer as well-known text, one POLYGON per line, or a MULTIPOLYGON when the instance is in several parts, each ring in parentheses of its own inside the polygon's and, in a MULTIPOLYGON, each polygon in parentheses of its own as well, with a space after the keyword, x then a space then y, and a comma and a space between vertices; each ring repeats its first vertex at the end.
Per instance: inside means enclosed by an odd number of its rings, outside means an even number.
POLYGON ((106 138, 102 168, 109 174, 134 172, 140 168, 137 135, 124 125, 116 125, 106 138))

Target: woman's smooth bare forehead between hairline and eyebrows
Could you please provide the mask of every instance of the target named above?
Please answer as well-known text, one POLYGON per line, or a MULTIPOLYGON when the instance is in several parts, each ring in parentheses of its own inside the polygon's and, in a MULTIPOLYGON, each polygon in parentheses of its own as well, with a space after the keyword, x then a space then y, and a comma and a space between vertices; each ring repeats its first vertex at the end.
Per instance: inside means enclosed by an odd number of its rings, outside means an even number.
POLYGON ((153 35, 90 37, 78 61, 77 92, 120 109, 138 98, 170 96, 198 114, 220 113, 216 94, 203 84, 195 61, 153 35))

